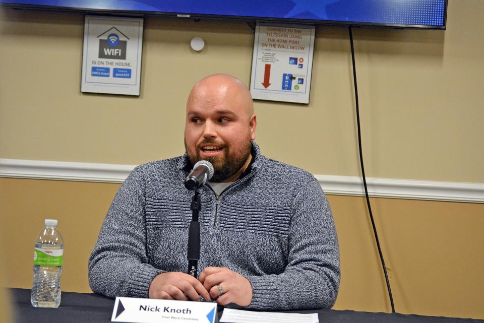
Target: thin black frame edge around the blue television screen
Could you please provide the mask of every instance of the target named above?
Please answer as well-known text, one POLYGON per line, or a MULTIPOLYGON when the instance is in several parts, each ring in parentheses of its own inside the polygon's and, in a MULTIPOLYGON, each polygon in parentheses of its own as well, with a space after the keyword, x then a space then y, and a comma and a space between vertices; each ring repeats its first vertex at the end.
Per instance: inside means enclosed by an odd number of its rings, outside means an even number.
POLYGON ((30 10, 44 10, 44 11, 60 11, 60 12, 84 12, 86 14, 104 14, 104 15, 123 15, 123 16, 168 16, 177 18, 193 18, 193 19, 235 19, 242 21, 266 21, 274 23, 292 23, 292 24, 311 24, 311 25, 330 25, 330 26, 354 26, 354 27, 386 27, 394 29, 423 29, 423 30, 446 30, 447 28, 447 4, 448 0, 444 0, 444 25, 408 25, 408 24, 386 24, 386 23, 368 23, 368 22, 352 22, 352 21, 335 21, 335 20, 313 20, 313 19, 295 19, 295 18, 272 18, 272 17, 254 17, 254 16, 229 16, 229 15, 212 15, 212 14, 193 14, 193 13, 171 13, 158 11, 135 11, 135 10, 112 10, 112 9, 87 9, 77 7, 59 7, 59 6, 45 6, 45 5, 24 5, 0 3, 0 8, 13 9, 30 9, 30 10))

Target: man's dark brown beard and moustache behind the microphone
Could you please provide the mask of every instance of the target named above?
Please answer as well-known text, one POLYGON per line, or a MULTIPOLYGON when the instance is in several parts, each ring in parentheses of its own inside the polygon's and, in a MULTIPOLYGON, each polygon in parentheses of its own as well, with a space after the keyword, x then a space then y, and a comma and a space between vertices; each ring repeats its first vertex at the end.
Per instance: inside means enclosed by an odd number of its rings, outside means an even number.
POLYGON ((214 140, 205 140, 198 144, 196 148, 196 156, 193 156, 187 149, 187 141, 185 140, 185 150, 187 151, 188 158, 192 165, 195 165, 198 161, 202 160, 200 157, 200 146, 205 144, 215 144, 223 148, 224 156, 212 156, 207 157, 205 160, 209 161, 213 165, 214 174, 210 179, 212 182, 220 182, 231 176, 244 166, 251 154, 252 143, 249 140, 247 145, 242 147, 240 150, 233 152, 229 155, 228 146, 225 144, 217 143, 214 140))

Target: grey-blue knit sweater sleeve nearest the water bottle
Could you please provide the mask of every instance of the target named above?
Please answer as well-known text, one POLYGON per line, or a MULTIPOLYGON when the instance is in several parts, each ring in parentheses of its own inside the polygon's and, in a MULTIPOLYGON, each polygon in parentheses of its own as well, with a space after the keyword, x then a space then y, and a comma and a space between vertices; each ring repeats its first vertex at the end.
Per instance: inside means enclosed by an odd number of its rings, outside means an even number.
POLYGON ((108 297, 148 297, 162 270, 149 265, 144 221, 144 181, 135 168, 119 188, 89 258, 89 285, 108 297))

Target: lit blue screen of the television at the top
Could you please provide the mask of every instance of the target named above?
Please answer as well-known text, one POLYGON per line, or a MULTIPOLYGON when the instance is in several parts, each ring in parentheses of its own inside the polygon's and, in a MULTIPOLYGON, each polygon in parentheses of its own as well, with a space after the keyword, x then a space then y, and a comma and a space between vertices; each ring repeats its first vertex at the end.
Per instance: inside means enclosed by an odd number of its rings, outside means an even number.
POLYGON ((4 7, 445 29, 447 0, 0 0, 4 7))

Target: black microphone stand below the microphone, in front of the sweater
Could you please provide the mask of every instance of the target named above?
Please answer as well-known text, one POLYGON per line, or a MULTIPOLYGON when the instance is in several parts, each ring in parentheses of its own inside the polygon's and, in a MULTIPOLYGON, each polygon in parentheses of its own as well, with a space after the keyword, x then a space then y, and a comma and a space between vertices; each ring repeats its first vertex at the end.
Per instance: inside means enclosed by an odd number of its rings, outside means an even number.
POLYGON ((198 222, 198 213, 202 210, 198 188, 195 189, 190 209, 192 209, 192 222, 190 222, 188 232, 188 274, 197 278, 198 261, 200 259, 200 222, 198 222))

